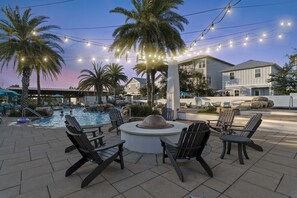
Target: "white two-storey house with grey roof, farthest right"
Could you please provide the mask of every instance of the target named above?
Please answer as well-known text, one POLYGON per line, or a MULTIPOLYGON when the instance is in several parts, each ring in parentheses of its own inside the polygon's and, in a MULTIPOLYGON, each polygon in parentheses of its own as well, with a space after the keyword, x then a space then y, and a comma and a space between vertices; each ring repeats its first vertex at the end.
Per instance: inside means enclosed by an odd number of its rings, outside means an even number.
POLYGON ((279 67, 275 63, 249 60, 222 70, 223 89, 234 96, 274 95, 273 83, 267 82, 269 74, 279 67))

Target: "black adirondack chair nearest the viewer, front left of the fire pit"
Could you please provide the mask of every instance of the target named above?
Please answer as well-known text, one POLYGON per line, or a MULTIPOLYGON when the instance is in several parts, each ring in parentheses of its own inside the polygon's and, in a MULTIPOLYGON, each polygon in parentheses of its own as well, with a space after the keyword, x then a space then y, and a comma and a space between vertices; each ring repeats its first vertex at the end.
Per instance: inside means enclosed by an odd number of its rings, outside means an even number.
POLYGON ((80 160, 67 169, 65 173, 66 177, 70 176, 88 161, 97 164, 98 166, 83 179, 81 187, 84 188, 113 161, 120 163, 121 169, 124 169, 122 154, 123 144, 125 143, 124 140, 95 148, 90 143, 85 133, 77 131, 76 128, 71 125, 66 125, 66 127, 68 129, 68 131, 66 131, 68 138, 82 155, 80 160))

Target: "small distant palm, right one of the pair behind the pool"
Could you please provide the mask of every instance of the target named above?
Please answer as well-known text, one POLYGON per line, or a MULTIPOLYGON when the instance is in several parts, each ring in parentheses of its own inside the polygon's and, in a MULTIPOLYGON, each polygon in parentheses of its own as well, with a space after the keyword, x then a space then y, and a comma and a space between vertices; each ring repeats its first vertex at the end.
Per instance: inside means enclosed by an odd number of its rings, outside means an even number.
POLYGON ((111 63, 106 65, 107 72, 112 83, 114 102, 116 102, 116 89, 120 85, 120 81, 127 82, 128 77, 123 72, 124 67, 118 63, 111 63))

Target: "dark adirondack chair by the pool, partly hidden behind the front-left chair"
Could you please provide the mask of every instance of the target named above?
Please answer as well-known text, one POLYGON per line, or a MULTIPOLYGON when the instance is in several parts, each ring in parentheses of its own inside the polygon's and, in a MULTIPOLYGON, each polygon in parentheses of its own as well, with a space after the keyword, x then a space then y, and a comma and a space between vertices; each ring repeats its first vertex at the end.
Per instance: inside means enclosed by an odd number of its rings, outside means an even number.
MULTIPOLYGON (((103 132, 101 131, 102 125, 89 125, 89 126, 81 126, 78 121, 75 119, 75 117, 70 115, 65 115, 65 124, 70 125, 74 127, 77 131, 82 131, 83 133, 86 133, 89 135, 89 140, 92 140, 95 144, 95 147, 98 147, 100 145, 104 145, 103 143, 103 132)), ((75 146, 71 145, 65 148, 65 153, 69 153, 71 151, 75 150, 75 146)))

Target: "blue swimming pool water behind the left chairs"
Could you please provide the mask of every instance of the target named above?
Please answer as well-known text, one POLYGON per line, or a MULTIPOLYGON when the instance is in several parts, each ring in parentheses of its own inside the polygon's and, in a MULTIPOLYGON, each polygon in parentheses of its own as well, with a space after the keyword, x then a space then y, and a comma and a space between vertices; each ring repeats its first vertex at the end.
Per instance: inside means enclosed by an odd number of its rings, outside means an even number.
POLYGON ((42 118, 33 121, 34 126, 43 127, 65 127, 65 115, 70 115, 72 110, 72 116, 74 116, 81 125, 95 125, 95 124, 107 124, 109 123, 108 113, 102 112, 83 112, 83 108, 63 109, 64 115, 61 115, 61 110, 54 111, 53 116, 48 118, 42 118))

